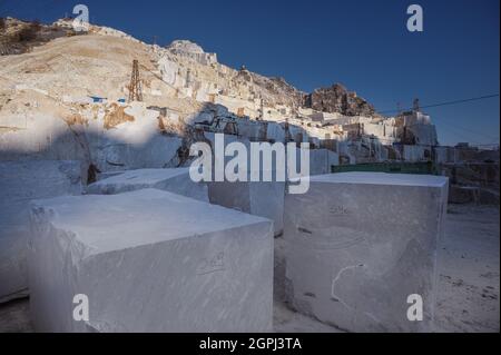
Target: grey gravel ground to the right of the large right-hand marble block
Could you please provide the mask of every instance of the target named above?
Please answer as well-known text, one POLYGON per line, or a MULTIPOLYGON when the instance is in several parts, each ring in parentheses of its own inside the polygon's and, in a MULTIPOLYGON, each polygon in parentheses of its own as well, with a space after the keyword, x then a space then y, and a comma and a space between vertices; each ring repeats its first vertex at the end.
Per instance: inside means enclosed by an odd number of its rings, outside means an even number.
POLYGON ((438 332, 499 332, 499 209, 449 208, 439 250, 438 332))

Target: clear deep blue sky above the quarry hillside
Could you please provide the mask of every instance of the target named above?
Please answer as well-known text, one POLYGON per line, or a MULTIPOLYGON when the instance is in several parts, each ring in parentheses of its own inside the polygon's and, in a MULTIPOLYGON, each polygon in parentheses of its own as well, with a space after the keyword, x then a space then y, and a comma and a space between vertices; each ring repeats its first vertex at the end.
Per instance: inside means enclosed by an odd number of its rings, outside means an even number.
MULTIPOLYGON (((190 39, 219 61, 304 91, 342 82, 377 110, 499 93, 499 0, 0 0, 0 14, 53 21, 85 3, 94 23, 160 45, 190 39), (406 30, 406 8, 424 32, 406 30)), ((499 142, 499 97, 430 108, 441 144, 499 142)))

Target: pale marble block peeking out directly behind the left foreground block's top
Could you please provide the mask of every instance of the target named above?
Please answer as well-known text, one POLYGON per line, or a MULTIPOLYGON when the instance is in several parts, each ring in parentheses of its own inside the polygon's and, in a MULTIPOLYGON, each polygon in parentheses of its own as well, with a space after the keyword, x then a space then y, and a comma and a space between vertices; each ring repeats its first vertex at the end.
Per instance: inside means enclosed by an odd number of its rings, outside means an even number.
POLYGON ((189 168, 127 170, 89 185, 87 193, 115 195, 141 188, 158 188, 208 201, 207 185, 194 183, 189 168))

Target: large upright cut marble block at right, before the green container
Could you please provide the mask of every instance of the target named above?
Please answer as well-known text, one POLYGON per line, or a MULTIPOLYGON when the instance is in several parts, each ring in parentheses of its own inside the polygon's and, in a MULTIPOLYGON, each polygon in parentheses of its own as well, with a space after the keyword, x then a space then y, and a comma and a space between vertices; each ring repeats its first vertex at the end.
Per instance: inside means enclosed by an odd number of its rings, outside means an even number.
POLYGON ((346 172, 310 178, 287 195, 287 298, 297 310, 351 332, 432 329, 435 254, 448 178, 346 172), (407 296, 423 300, 410 322, 407 296))

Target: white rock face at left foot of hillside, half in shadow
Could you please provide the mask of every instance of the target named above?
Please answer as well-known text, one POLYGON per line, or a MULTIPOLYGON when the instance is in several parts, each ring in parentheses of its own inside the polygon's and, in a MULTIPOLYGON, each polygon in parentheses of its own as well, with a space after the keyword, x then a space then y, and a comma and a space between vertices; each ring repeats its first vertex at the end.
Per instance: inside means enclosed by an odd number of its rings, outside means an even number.
POLYGON ((125 111, 134 121, 111 129, 102 117, 71 127, 50 115, 2 119, 0 126, 16 129, 0 135, 0 160, 82 160, 100 171, 176 166, 183 139, 160 134, 158 111, 143 102, 125 111))

